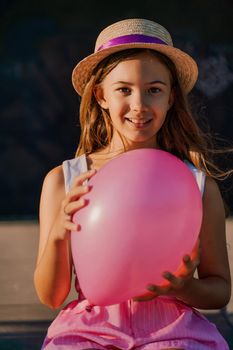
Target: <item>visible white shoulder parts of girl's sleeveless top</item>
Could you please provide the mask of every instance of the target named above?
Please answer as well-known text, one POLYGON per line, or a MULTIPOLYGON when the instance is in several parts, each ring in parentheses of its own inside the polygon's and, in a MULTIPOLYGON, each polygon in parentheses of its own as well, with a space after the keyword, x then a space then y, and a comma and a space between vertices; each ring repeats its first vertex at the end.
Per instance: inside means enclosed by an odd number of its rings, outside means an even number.
MULTIPOLYGON (((185 161, 184 163, 188 166, 188 168, 191 170, 192 174, 194 175, 197 181, 198 187, 200 189, 200 192, 203 195, 204 188, 205 188, 205 174, 201 170, 197 169, 190 162, 185 161)), ((62 168, 64 173, 65 191, 67 193, 69 192, 70 187, 72 186, 74 178, 80 175, 81 173, 88 171, 85 154, 77 158, 65 160, 62 163, 62 168)))

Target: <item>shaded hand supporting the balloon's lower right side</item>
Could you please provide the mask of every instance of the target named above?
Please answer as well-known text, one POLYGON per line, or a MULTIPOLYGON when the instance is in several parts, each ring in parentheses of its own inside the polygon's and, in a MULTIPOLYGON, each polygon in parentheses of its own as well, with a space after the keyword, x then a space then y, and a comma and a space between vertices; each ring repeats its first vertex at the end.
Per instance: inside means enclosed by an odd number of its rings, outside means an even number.
POLYGON ((149 284, 146 289, 149 293, 133 298, 134 301, 147 301, 156 298, 159 295, 180 295, 183 289, 186 289, 197 266, 200 262, 200 240, 197 240, 191 255, 185 255, 180 268, 176 274, 165 271, 162 276, 166 280, 161 285, 149 284))

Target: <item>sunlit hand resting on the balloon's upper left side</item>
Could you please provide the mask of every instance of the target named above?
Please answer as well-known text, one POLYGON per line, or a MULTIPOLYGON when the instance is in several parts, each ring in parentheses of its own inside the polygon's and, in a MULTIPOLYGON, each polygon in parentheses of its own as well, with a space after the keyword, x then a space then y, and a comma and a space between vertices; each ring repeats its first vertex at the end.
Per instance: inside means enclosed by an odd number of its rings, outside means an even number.
POLYGON ((70 191, 66 194, 61 203, 61 208, 55 222, 53 232, 56 232, 55 240, 69 239, 70 231, 79 231, 80 226, 72 222, 75 212, 85 207, 88 201, 82 196, 90 192, 92 186, 85 184, 85 181, 91 179, 96 174, 96 170, 92 169, 74 179, 70 191))

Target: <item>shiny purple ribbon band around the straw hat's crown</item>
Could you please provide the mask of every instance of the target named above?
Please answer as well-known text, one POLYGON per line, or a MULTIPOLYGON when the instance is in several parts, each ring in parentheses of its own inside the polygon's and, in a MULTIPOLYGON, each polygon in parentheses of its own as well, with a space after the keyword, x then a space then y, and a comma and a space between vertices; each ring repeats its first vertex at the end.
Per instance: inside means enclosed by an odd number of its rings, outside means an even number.
POLYGON ((148 36, 148 35, 143 35, 143 34, 129 34, 129 35, 123 35, 119 36, 117 38, 113 38, 96 50, 101 51, 103 49, 107 49, 112 46, 116 45, 121 45, 121 44, 132 44, 132 43, 149 43, 149 44, 163 44, 163 45, 168 45, 165 41, 156 38, 154 36, 148 36))

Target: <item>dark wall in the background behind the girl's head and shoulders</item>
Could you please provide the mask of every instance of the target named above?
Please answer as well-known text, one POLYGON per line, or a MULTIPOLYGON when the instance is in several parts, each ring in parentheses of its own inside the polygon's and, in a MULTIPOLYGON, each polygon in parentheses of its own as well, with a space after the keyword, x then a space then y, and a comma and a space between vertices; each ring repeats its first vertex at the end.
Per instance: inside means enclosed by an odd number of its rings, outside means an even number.
MULTIPOLYGON (((202 125, 232 141, 233 2, 230 0, 1 0, 0 218, 38 217, 45 174, 74 156, 79 97, 74 65, 114 21, 144 17, 163 24, 198 62, 193 95, 202 125)), ((218 156, 233 167, 232 155, 218 156)), ((233 211, 232 179, 221 184, 233 211)))

